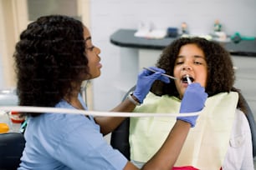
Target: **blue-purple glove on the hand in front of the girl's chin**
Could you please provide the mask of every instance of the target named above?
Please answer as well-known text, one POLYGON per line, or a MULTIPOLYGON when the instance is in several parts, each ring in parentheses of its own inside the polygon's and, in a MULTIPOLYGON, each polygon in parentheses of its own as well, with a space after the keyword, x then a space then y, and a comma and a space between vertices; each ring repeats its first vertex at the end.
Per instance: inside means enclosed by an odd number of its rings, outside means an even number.
MULTIPOLYGON (((204 102, 207 99, 207 93, 204 92, 204 87, 195 82, 189 84, 182 98, 180 113, 199 112, 204 107, 204 102)), ((191 127, 195 127, 197 116, 192 117, 177 117, 177 120, 189 122, 191 127)))

